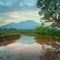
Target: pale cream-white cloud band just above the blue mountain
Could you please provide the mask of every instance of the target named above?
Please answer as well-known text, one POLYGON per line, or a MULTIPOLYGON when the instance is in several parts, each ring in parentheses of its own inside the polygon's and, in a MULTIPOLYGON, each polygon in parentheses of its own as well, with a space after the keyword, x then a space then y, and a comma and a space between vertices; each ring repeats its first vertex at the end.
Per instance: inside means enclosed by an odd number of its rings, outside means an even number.
MULTIPOLYGON (((38 15, 38 10, 15 11, 15 12, 10 12, 7 15, 10 18, 8 19, 7 17, 1 18, 4 19, 3 21, 5 22, 5 24, 12 22, 21 22, 26 20, 33 20, 38 23, 40 22, 40 16, 38 15)), ((4 22, 2 23, 2 25, 4 25, 4 22)))

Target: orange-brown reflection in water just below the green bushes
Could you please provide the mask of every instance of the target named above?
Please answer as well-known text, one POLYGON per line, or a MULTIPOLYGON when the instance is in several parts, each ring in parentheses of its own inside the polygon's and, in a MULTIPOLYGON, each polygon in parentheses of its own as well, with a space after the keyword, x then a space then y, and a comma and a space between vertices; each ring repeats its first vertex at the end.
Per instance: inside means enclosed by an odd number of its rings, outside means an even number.
POLYGON ((60 41, 56 40, 54 38, 48 38, 48 37, 36 37, 36 42, 41 45, 51 45, 52 47, 59 49, 60 48, 60 41))

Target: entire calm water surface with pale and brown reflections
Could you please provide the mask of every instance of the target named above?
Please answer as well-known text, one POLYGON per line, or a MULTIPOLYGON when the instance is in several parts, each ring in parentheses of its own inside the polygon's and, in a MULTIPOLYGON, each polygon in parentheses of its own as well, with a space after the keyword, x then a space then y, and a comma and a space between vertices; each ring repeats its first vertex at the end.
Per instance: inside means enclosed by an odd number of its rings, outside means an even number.
POLYGON ((0 47, 0 60, 60 60, 60 42, 44 37, 22 35, 0 47))

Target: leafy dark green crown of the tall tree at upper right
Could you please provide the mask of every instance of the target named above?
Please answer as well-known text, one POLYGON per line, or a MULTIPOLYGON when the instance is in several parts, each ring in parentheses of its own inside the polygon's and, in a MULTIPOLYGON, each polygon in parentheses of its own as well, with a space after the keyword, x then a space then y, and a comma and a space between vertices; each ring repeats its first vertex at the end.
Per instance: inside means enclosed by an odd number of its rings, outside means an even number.
POLYGON ((60 0, 38 0, 37 7, 43 19, 60 24, 60 0))

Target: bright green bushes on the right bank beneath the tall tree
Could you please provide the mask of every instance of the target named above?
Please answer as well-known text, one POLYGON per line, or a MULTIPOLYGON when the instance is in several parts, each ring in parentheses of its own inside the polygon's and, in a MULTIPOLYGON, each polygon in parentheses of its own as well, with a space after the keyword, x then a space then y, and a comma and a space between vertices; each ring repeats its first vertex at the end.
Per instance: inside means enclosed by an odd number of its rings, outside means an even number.
POLYGON ((39 36, 58 37, 60 39, 60 30, 54 27, 40 26, 34 30, 34 33, 39 36))

